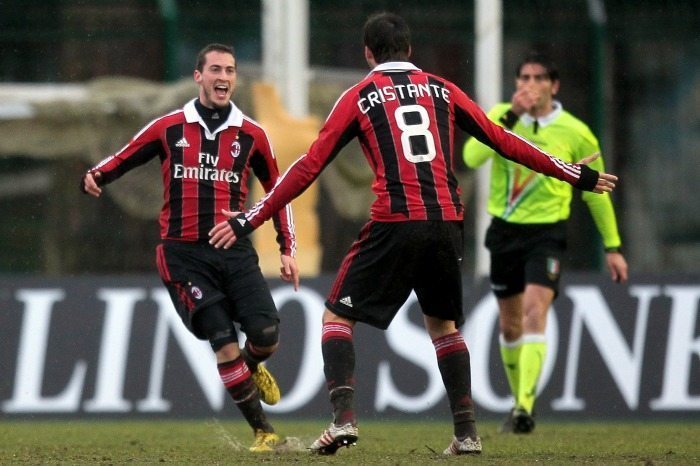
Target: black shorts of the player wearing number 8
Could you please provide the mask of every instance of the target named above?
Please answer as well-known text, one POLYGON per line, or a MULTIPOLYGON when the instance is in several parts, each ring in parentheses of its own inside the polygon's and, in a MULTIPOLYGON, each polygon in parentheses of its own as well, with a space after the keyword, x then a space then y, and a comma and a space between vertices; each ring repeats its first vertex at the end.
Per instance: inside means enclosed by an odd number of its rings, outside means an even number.
POLYGON ((326 306, 386 329, 412 290, 423 314, 464 322, 462 222, 368 222, 335 278, 326 306))

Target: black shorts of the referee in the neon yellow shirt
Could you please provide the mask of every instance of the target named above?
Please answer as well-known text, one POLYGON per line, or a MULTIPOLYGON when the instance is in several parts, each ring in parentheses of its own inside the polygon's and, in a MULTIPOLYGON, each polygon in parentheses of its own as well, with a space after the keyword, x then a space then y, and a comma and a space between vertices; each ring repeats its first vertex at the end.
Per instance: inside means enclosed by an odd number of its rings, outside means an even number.
POLYGON ((516 224, 493 218, 486 232, 491 252, 491 289, 499 298, 522 293, 535 283, 559 293, 566 224, 516 224))

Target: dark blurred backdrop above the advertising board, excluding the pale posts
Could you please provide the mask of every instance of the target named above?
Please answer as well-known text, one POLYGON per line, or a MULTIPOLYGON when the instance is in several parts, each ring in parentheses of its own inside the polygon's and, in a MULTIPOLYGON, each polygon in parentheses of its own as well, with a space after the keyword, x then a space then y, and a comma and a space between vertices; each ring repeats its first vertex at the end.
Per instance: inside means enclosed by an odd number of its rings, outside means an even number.
MULTIPOLYGON (((503 7, 503 95, 527 50, 553 56, 565 108, 594 128, 608 171, 621 177, 614 198, 633 273, 697 272, 700 2, 504 0, 503 7), (589 3, 604 6, 604 23, 590 19, 589 3)), ((472 1, 311 0, 313 115, 324 118, 366 72, 361 28, 381 9, 408 20, 419 67, 474 95, 472 1)), ((234 100, 255 118, 250 84, 259 77, 261 15, 258 1, 0 0, 0 273, 152 273, 157 167, 130 173, 100 202, 81 195, 78 180, 150 119, 195 95, 194 57, 209 42, 236 47, 234 100), (34 102, 31 112, 16 105, 18 96, 34 102)), ((346 152, 336 162, 346 160, 347 174, 364 162, 356 146, 346 152)), ((472 173, 462 175, 473 212, 472 173)), ((330 176, 337 186, 338 173, 330 176)), ((366 173, 350 176, 366 183, 366 173)), ((325 189, 321 218, 337 221, 320 225, 328 256, 319 271, 330 272, 351 239, 341 233, 357 232, 368 200, 344 211, 325 189)), ((473 217, 465 222, 469 259, 473 217)), ((591 253, 597 233, 580 202, 569 228, 568 266, 600 267, 591 253)))

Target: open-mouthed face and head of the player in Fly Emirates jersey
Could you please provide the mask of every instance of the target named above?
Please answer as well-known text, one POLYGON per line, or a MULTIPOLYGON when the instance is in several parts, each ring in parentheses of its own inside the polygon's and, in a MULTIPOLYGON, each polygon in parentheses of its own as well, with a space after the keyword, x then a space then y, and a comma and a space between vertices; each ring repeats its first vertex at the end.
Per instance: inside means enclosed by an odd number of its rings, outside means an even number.
POLYGON ((212 50, 205 57, 202 71, 194 71, 194 80, 199 84, 199 101, 208 108, 225 108, 236 87, 236 59, 218 50, 212 50))

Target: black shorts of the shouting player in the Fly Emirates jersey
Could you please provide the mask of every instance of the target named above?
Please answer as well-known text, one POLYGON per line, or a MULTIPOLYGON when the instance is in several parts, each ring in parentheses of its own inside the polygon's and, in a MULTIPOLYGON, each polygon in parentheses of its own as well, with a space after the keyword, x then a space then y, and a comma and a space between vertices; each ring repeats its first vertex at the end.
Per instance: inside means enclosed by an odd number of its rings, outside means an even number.
POLYGON ((236 241, 230 249, 216 249, 207 242, 163 241, 156 247, 156 260, 175 309, 197 338, 206 336, 192 325, 192 318, 214 303, 221 303, 233 322, 251 315, 279 322, 249 238, 236 241))

